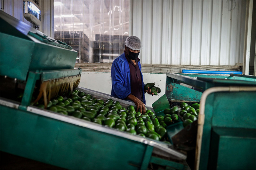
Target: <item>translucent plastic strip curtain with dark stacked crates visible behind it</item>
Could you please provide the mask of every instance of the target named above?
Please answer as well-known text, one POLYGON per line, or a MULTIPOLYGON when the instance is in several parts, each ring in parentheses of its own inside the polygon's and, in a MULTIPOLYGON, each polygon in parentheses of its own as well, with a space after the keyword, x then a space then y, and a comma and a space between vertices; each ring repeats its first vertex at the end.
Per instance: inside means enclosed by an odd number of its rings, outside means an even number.
POLYGON ((128 33, 129 0, 54 0, 54 38, 78 52, 77 63, 111 63, 128 33))

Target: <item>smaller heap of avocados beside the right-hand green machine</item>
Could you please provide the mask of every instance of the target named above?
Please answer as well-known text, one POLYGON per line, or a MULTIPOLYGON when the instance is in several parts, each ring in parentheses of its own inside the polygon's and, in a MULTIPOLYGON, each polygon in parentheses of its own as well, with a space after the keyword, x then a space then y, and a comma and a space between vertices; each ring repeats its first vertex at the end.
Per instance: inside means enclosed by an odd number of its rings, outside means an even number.
POLYGON ((198 103, 193 103, 189 106, 187 103, 182 102, 180 103, 180 106, 173 106, 171 109, 164 109, 164 114, 172 114, 172 117, 178 117, 179 115, 182 118, 183 127, 186 127, 197 120, 199 107, 200 104, 198 103))

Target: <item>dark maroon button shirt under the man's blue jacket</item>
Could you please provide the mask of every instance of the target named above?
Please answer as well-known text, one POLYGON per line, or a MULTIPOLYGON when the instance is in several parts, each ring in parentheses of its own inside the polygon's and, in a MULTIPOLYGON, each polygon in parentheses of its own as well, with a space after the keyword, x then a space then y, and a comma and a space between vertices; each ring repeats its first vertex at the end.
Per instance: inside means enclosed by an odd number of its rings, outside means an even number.
POLYGON ((140 61, 139 58, 135 59, 136 65, 128 58, 124 51, 125 57, 129 63, 130 67, 130 75, 131 75, 131 94, 137 97, 142 101, 142 80, 141 80, 141 74, 140 74, 140 69, 138 66, 138 62, 140 61))

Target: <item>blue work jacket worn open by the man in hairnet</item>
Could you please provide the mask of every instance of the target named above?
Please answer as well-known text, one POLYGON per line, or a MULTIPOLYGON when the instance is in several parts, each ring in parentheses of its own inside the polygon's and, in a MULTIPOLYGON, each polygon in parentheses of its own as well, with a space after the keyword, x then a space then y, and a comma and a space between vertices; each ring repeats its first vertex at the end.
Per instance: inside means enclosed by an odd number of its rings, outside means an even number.
MULTIPOLYGON (((140 69, 141 81, 142 81, 142 90, 144 92, 144 82, 143 75, 141 73, 141 65, 138 62, 140 69)), ((125 58, 124 53, 117 57, 111 66, 111 80, 112 80, 112 89, 111 95, 116 96, 124 100, 129 94, 131 94, 131 75, 130 67, 127 59, 125 58)), ((143 93, 142 101, 146 104, 145 94, 143 93)))

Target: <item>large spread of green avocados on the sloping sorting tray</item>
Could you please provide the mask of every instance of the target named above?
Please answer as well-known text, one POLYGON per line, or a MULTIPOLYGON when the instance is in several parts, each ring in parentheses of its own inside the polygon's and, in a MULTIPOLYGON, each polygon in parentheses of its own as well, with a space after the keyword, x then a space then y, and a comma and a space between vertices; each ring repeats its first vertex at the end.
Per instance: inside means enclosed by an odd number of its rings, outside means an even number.
MULTIPOLYGON (((44 105, 38 104, 37 107, 44 108, 44 105)), ((79 90, 74 90, 65 100, 62 96, 50 100, 46 109, 165 142, 165 128, 172 124, 171 115, 156 116, 151 110, 141 114, 132 105, 125 108, 119 101, 96 99, 79 90)))

